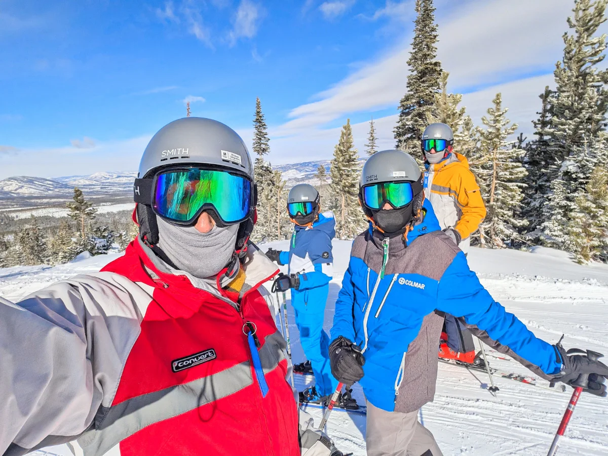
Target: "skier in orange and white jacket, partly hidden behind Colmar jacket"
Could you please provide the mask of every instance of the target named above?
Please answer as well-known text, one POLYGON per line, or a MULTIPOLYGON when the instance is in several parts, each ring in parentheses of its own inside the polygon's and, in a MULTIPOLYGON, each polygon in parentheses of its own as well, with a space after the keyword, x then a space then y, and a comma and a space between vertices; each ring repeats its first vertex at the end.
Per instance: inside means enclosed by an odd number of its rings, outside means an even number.
MULTIPOLYGON (((433 206, 441 229, 466 256, 470 236, 482 223, 486 208, 468 160, 454 152, 453 147, 454 134, 449 125, 431 123, 424 130, 424 195, 433 206)), ((440 345, 440 358, 477 362, 473 337, 463 322, 446 314, 445 328, 447 343, 440 345)))

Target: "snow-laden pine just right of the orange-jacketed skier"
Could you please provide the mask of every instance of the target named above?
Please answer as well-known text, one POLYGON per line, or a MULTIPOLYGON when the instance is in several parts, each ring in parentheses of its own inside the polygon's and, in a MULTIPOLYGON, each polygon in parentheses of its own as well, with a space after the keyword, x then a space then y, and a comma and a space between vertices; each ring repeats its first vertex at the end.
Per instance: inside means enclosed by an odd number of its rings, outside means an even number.
POLYGON ((513 147, 514 142, 508 140, 517 130, 517 124, 509 125, 511 121, 505 117, 508 108, 502 108, 500 93, 492 103, 494 108, 488 109, 488 117, 482 117, 486 129, 478 129, 480 150, 486 163, 485 172, 477 179, 488 210, 479 231, 482 246, 503 249, 520 238, 517 229, 527 223, 519 216, 525 187, 522 179, 526 175, 520 157, 525 151, 513 147))

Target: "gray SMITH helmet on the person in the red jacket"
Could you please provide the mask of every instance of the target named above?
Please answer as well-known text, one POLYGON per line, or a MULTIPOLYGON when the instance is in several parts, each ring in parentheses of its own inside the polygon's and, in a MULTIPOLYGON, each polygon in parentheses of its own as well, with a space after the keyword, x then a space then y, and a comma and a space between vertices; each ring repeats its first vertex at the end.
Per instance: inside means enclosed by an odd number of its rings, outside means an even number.
POLYGON ((249 152, 237 132, 202 117, 184 117, 162 127, 143 151, 137 177, 149 177, 165 166, 195 164, 232 168, 254 178, 249 152))

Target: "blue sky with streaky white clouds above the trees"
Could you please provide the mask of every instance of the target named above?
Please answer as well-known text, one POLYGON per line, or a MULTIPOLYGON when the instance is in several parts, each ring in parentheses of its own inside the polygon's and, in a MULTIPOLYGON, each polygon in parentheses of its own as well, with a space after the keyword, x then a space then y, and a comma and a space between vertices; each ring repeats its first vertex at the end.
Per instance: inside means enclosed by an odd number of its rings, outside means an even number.
MULTIPOLYGON (((0 0, 0 178, 134 170, 186 99, 250 143, 260 97, 274 164, 331 158, 347 117, 392 147, 413 3, 0 0)), ((435 5, 450 89, 476 122, 502 91, 528 134, 573 1, 435 5)))

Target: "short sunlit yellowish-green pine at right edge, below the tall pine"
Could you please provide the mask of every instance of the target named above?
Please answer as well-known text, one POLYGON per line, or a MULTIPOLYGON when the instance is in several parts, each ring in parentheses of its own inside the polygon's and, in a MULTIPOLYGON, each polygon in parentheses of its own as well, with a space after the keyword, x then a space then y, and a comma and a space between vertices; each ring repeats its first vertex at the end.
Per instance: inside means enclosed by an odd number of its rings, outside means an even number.
POLYGON ((567 232, 576 262, 608 261, 608 168, 593 170, 575 205, 567 232))

